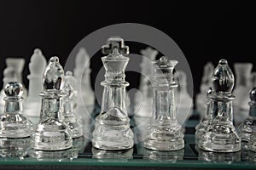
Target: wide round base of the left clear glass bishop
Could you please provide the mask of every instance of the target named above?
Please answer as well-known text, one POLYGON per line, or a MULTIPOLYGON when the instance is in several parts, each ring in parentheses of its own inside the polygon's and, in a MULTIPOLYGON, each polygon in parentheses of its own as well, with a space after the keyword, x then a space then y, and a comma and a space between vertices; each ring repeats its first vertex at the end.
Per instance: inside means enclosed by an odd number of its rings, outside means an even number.
POLYGON ((31 147, 35 150, 67 150, 72 146, 67 126, 55 119, 39 122, 31 136, 31 147))

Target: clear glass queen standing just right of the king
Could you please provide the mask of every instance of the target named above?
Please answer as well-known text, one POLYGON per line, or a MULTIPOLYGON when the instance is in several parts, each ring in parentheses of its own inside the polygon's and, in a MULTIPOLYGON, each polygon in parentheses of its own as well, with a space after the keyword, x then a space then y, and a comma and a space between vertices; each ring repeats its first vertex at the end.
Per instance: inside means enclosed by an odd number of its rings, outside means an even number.
POLYGON ((144 147, 150 150, 181 150, 183 127, 177 122, 173 69, 177 60, 165 56, 154 61, 154 117, 144 147))

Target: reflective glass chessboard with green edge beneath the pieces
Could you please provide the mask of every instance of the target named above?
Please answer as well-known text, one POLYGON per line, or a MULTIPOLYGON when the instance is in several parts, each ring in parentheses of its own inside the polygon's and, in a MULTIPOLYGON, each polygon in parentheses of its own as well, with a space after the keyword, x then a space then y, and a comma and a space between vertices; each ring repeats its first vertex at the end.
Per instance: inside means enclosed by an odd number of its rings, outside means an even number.
MULTIPOLYGON (((96 110, 98 112, 98 109, 96 110)), ((92 115, 96 116, 96 115, 92 115)), ((73 140, 73 149, 61 151, 42 151, 26 149, 28 139, 15 140, 15 143, 1 139, 1 167, 77 169, 78 167, 98 167, 105 169, 114 167, 179 167, 179 168, 256 168, 256 153, 241 150, 235 153, 214 153, 200 150, 195 144, 195 126, 199 123, 199 114, 194 111, 187 122, 184 122, 185 147, 177 151, 156 151, 143 148, 143 143, 137 143, 131 150, 97 150, 92 147, 89 139, 73 140), (7 146, 9 144, 9 147, 7 146), (13 144, 13 145, 11 145, 13 144), (5 147, 4 147, 5 146, 5 147), (25 148, 25 149, 24 149, 25 148), (22 155, 21 152, 24 152, 22 155)), ((134 117, 131 116, 131 127, 134 117)), ((90 126, 93 128, 93 126, 90 126)), ((136 138, 140 137, 137 128, 132 128, 136 138), (137 131, 137 132, 135 132, 137 131)), ((92 131, 93 129, 90 129, 92 131)))

